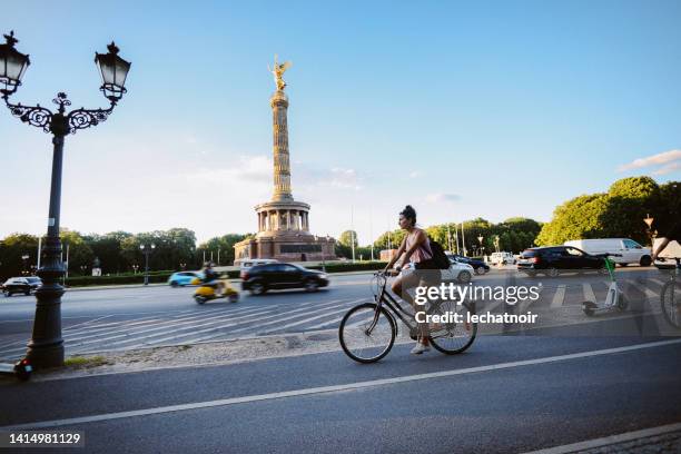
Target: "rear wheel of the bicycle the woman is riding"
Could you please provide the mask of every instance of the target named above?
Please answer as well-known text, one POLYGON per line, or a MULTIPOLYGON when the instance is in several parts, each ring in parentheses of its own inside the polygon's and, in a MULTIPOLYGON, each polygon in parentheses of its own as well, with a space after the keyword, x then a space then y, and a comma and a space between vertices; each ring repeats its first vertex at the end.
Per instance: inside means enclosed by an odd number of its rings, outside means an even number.
POLYGON ((468 314, 474 314, 472 306, 467 303, 457 305, 456 302, 438 302, 433 304, 427 313, 428 315, 451 315, 452 317, 456 314, 462 319, 461 323, 455 320, 428 323, 430 339, 435 349, 447 355, 455 355, 465 352, 475 340, 477 324, 467 320, 468 314))

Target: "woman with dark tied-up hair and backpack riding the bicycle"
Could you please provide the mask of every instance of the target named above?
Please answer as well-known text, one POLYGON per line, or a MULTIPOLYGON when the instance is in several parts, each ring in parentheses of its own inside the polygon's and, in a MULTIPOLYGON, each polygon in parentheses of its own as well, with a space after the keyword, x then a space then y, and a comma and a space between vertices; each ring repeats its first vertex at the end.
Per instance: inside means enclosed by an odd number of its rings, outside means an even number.
MULTIPOLYGON (((428 236, 421 228, 416 227, 416 210, 411 205, 407 205, 404 210, 399 213, 399 227, 407 231, 407 235, 402 240, 397 254, 385 266, 384 272, 387 273, 393 265, 402 257, 402 269, 399 275, 393 282, 392 289, 402 299, 407 302, 414 307, 414 310, 423 310, 423 306, 414 303, 414 298, 409 295, 408 290, 417 286, 433 285, 428 284, 426 277, 430 277, 433 272, 428 273, 425 269, 432 268, 431 261, 433 260, 433 251, 431 250, 431 244, 428 236), (420 273, 418 270, 424 270, 420 273)), ((418 324, 418 339, 416 345, 412 348, 414 355, 420 355, 431 349, 428 343, 428 325, 427 323, 418 324)))

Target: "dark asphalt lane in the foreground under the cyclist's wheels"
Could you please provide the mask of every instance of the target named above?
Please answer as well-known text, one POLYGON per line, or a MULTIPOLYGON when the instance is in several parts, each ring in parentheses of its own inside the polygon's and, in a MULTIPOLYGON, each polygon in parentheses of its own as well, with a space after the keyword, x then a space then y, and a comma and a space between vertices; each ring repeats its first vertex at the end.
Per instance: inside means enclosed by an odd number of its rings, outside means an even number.
POLYGON ((4 383, 0 431, 82 431, 88 453, 520 453, 679 422, 680 342, 485 336, 373 365, 337 352, 4 383))

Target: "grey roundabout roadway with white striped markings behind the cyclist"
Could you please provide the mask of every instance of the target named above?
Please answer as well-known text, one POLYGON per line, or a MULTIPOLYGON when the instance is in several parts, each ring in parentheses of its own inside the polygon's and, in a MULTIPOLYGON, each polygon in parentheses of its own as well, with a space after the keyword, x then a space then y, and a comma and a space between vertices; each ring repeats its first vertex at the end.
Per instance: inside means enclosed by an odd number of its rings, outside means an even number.
MULTIPOLYGON (((618 270, 621 287, 631 300, 629 314, 659 312, 664 278, 657 269, 618 270)), ((254 297, 243 293, 237 304, 225 300, 199 306, 193 288, 135 287, 67 292, 62 298, 62 328, 67 355, 111 349, 193 344, 249 336, 336 329, 347 309, 372 298, 371 274, 333 276, 328 289, 315 294, 300 290, 272 292, 254 297)), ((475 277, 474 285, 537 285, 541 298, 510 308, 499 302, 481 302, 477 312, 532 310, 544 323, 561 325, 586 322, 584 300, 603 300, 605 277, 566 275, 526 278, 512 272, 475 277)), ((34 298, 13 296, 0 302, 0 359, 23 355, 30 338, 34 298)), ((659 324, 647 335, 665 334, 659 324)), ((641 334, 640 323, 620 334, 641 334)))

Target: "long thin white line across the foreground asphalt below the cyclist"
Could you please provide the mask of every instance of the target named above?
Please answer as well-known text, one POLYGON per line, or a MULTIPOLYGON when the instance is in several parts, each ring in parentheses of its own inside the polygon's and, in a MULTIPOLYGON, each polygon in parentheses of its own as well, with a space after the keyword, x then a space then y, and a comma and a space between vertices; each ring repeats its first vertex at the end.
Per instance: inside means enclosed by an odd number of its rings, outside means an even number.
POLYGON ((344 385, 318 386, 318 387, 310 387, 310 388, 303 388, 303 389, 284 391, 284 392, 278 392, 278 393, 256 394, 256 395, 250 395, 250 396, 230 397, 230 398, 223 398, 223 399, 207 401, 207 402, 195 402, 190 404, 168 405, 168 406, 154 407, 154 408, 135 409, 135 411, 129 411, 129 412, 105 413, 105 414, 99 414, 99 415, 71 417, 71 418, 65 418, 65 420, 38 421, 38 422, 32 422, 32 423, 0 426, 0 430, 7 431, 7 430, 60 427, 60 426, 67 426, 67 425, 73 425, 73 424, 86 424, 86 423, 95 423, 95 422, 102 422, 102 421, 114 421, 114 420, 122 420, 122 418, 136 417, 136 416, 148 416, 148 415, 158 415, 158 414, 165 414, 165 413, 184 412, 184 411, 190 411, 190 409, 215 408, 215 407, 223 407, 223 406, 237 405, 237 404, 247 404, 247 403, 253 403, 253 402, 266 402, 266 401, 274 401, 274 399, 279 399, 279 398, 310 396, 315 394, 336 393, 336 392, 343 392, 343 391, 349 391, 349 389, 362 389, 362 388, 375 387, 375 386, 420 382, 420 381, 426 381, 426 379, 451 377, 455 375, 465 375, 465 374, 490 372, 490 371, 502 371, 502 369, 507 369, 507 368, 513 368, 513 367, 533 366, 537 364, 559 363, 563 361, 582 359, 582 358, 590 358, 590 357, 595 357, 595 356, 635 352, 635 351, 647 349, 647 348, 664 347, 664 346, 675 345, 680 343, 681 343, 681 339, 651 342, 647 344, 629 345, 625 347, 581 352, 581 353, 569 354, 569 355, 547 356, 547 357, 535 358, 535 359, 514 361, 511 363, 491 364, 486 366, 467 367, 467 368, 461 368, 461 369, 454 369, 454 371, 432 372, 428 374, 405 375, 402 377, 381 378, 381 379, 373 379, 373 381, 367 381, 367 382, 355 382, 355 383, 347 383, 344 385))

